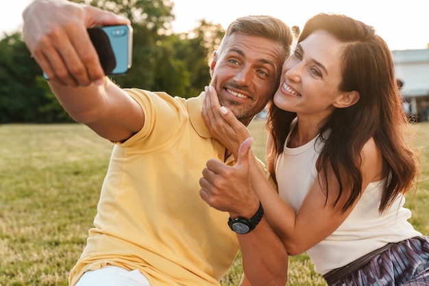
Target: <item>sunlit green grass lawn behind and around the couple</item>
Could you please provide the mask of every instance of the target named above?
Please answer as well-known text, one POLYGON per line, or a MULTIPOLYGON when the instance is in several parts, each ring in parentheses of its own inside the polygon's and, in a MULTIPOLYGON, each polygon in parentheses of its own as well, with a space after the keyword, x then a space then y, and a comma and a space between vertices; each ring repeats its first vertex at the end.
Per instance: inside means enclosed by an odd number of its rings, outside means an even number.
MULTIPOLYGON (((262 120, 249 127, 265 158, 262 120)), ((429 123, 413 125, 424 160, 429 123)), ((417 138, 413 138, 417 139, 417 138)), ((96 213, 112 144, 84 125, 0 125, 0 285, 68 285, 96 213)), ((411 222, 429 234, 428 168, 406 205, 411 222)), ((309 233, 309 235, 311 235, 309 233)), ((221 281, 238 285, 241 259, 221 281)), ((287 285, 326 285, 306 255, 291 257, 287 285)))

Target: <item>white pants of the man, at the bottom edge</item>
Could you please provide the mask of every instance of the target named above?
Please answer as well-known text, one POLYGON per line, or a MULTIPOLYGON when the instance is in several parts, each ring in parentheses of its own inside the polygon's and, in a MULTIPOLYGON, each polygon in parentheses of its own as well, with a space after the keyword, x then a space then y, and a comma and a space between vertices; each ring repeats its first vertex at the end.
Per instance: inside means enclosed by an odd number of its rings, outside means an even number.
POLYGON ((99 270, 85 272, 76 286, 151 286, 147 278, 138 270, 126 270, 116 266, 106 266, 99 270))

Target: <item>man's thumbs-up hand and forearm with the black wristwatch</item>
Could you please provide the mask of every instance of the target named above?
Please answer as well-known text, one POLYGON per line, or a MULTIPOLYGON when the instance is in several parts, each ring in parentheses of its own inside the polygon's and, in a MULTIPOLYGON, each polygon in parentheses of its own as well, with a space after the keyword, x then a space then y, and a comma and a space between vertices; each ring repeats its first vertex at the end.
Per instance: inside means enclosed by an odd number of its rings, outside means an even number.
MULTIPOLYGON (((249 178, 249 154, 250 144, 253 138, 243 142, 238 151, 238 159, 235 166, 228 166, 223 162, 212 159, 208 161, 207 168, 199 181, 201 185, 200 196, 208 205, 221 211, 228 211, 231 218, 244 218, 249 220, 256 214, 260 200, 256 194, 249 189, 237 190, 237 192, 219 192, 228 189, 234 181, 229 178, 221 183, 224 187, 218 189, 213 182, 219 177, 228 177, 232 173, 250 182, 249 178)), ((270 205, 262 203, 263 209, 270 209, 270 205)), ((226 223, 226 222, 225 222, 226 223)), ((243 255, 243 270, 248 281, 255 285, 285 285, 287 280, 288 254, 280 238, 275 235, 269 225, 265 214, 256 227, 248 233, 237 233, 243 255)), ((245 283, 245 282, 243 282, 245 283)), ((243 284, 245 285, 245 284, 243 284)))

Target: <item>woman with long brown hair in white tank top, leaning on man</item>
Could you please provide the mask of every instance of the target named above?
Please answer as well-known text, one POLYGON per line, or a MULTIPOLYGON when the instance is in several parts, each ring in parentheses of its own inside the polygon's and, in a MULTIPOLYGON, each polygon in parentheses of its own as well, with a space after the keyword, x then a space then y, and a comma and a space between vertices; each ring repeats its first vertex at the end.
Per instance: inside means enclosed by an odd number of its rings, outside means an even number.
POLYGON ((328 285, 428 285, 429 237, 408 223, 403 207, 418 157, 406 144, 384 40, 347 16, 310 18, 273 103, 267 167, 280 197, 247 156, 251 140, 237 151, 249 135, 228 109, 218 109, 211 88, 206 123, 238 161, 208 161, 201 197, 218 209, 232 194, 256 209, 249 194, 258 197, 289 255, 307 252, 328 285))

